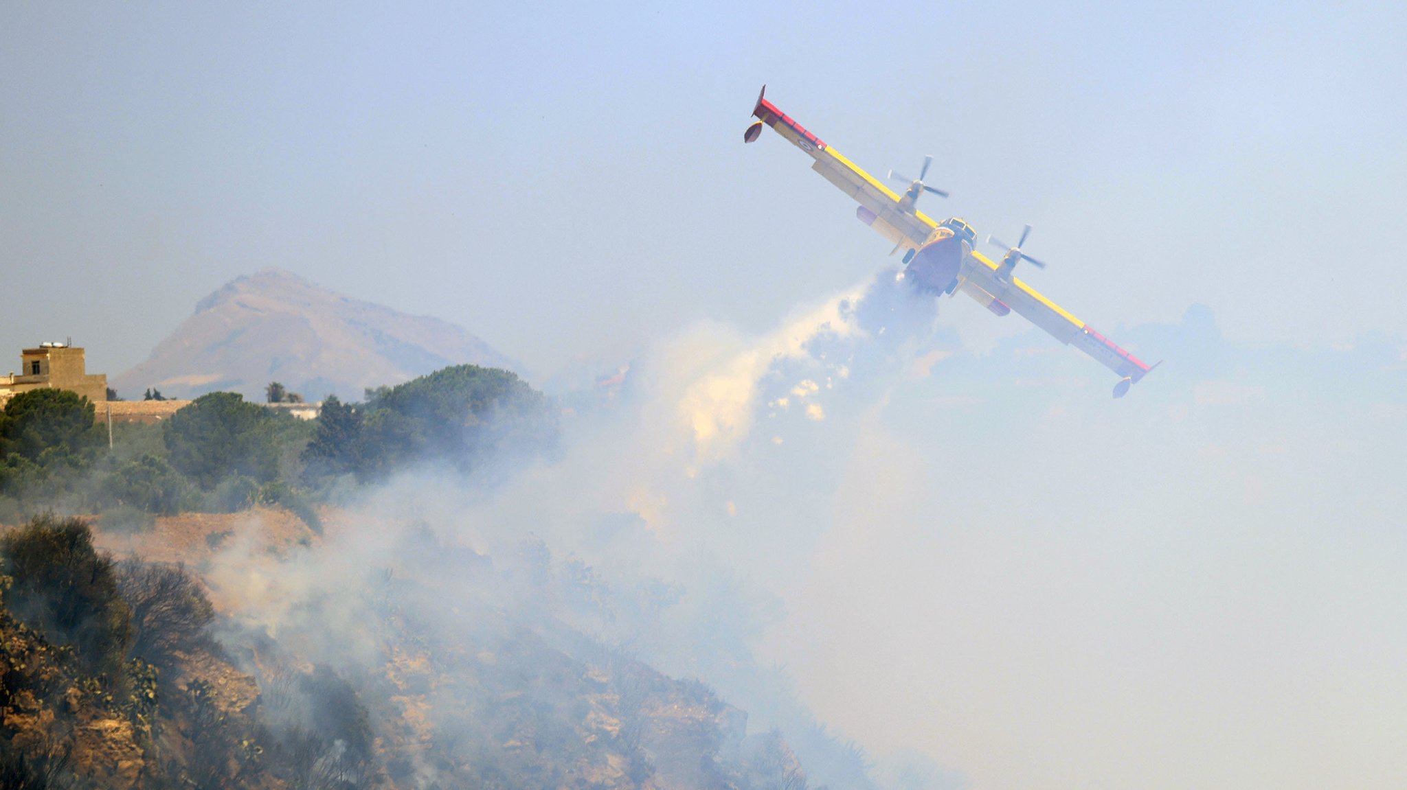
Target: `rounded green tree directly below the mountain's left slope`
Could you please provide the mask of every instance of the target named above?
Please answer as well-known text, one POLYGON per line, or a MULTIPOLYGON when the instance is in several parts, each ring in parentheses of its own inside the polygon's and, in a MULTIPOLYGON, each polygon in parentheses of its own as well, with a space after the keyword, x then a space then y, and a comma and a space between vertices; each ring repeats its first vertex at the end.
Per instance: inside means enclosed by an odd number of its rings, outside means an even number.
POLYGON ((166 420, 170 464, 201 488, 229 475, 269 482, 279 474, 273 415, 236 392, 211 392, 166 420))

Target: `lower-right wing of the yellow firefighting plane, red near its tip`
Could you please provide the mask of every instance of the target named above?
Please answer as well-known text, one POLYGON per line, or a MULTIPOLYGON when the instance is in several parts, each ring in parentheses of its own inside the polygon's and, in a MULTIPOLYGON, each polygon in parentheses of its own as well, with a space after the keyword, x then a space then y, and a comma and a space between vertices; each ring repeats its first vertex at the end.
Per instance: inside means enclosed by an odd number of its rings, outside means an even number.
POLYGON ((1128 391, 1128 385, 1137 384, 1148 371, 1158 367, 1148 365, 1120 349, 1113 340, 1023 283, 1020 277, 1002 277, 999 271, 1000 267, 982 253, 968 253, 962 261, 960 288, 998 315, 1005 315, 1003 306, 1016 311, 1061 343, 1075 346, 1119 374, 1120 382, 1114 387, 1114 398, 1121 396, 1128 391))

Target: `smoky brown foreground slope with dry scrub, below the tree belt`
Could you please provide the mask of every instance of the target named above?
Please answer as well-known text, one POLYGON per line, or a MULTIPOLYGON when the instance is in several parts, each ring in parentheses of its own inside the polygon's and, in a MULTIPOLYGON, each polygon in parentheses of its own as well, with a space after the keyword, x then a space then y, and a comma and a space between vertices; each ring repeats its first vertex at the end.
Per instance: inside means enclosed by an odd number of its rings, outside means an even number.
MULTIPOLYGON (((70 551, 128 599, 134 658, 106 676, 46 635, 35 604, 56 583, 35 576, 72 574, 18 564, 0 585, 0 786, 806 787, 779 734, 749 735, 747 714, 708 686, 570 626, 582 574, 540 543, 488 557, 411 527, 329 583, 318 565, 397 526, 325 517, 326 540, 259 507, 70 551)), ((0 530, 0 544, 21 533, 0 530)))

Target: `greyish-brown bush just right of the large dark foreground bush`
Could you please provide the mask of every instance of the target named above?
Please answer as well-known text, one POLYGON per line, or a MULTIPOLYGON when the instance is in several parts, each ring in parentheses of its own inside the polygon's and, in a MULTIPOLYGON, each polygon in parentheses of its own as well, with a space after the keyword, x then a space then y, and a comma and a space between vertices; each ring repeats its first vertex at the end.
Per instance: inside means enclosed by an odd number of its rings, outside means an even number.
POLYGON ((169 669, 177 651, 208 647, 215 607, 183 565, 125 559, 117 586, 132 611, 131 655, 169 669))

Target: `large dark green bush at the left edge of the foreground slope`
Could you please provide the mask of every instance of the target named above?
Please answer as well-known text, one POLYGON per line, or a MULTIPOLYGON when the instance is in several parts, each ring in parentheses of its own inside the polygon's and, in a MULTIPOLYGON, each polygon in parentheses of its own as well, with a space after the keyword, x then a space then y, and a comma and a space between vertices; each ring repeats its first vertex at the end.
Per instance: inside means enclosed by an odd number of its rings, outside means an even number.
POLYGON ((39 516, 0 537, 0 558, 13 578, 10 611, 51 642, 73 645, 86 669, 117 678, 132 638, 129 611, 111 557, 93 550, 93 530, 80 519, 39 516))

